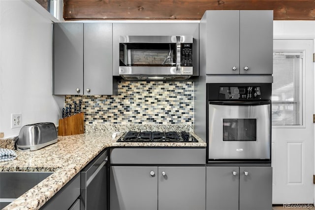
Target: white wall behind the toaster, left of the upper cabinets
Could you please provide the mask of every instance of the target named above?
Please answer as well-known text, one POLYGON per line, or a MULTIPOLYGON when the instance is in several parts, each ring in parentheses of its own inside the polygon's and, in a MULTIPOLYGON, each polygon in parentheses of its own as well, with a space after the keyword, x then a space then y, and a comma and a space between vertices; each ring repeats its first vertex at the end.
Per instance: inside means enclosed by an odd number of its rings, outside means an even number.
POLYGON ((16 136, 11 113, 22 126, 58 125, 64 97, 52 96, 52 21, 23 0, 0 0, 0 132, 16 136))

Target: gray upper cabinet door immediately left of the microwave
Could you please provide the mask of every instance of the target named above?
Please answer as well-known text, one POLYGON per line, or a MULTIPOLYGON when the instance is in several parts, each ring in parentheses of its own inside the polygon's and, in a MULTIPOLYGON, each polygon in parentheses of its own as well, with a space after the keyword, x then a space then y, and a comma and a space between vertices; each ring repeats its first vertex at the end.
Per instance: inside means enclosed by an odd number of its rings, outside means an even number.
POLYGON ((84 24, 84 94, 112 95, 112 23, 84 24))

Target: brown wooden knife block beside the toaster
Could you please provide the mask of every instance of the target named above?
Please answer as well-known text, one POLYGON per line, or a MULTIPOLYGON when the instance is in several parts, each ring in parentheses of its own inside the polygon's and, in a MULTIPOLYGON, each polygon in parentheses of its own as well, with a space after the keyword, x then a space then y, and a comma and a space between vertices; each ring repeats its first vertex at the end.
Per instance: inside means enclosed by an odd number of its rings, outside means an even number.
POLYGON ((84 134, 84 113, 80 112, 59 120, 58 136, 84 134))

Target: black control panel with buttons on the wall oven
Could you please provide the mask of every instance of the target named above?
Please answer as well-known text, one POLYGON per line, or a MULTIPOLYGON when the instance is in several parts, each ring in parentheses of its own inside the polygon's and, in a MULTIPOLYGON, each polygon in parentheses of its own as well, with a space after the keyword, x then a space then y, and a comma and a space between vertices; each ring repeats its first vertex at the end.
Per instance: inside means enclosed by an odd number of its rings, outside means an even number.
POLYGON ((260 86, 221 86, 219 89, 219 99, 261 99, 260 86))

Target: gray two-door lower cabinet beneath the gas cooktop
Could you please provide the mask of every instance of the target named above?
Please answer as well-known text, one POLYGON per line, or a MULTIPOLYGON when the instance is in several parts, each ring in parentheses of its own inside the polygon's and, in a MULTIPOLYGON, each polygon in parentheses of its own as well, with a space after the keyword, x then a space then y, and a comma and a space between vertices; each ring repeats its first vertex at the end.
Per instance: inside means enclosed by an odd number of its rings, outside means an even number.
POLYGON ((110 210, 205 210, 205 167, 113 166, 110 210))

